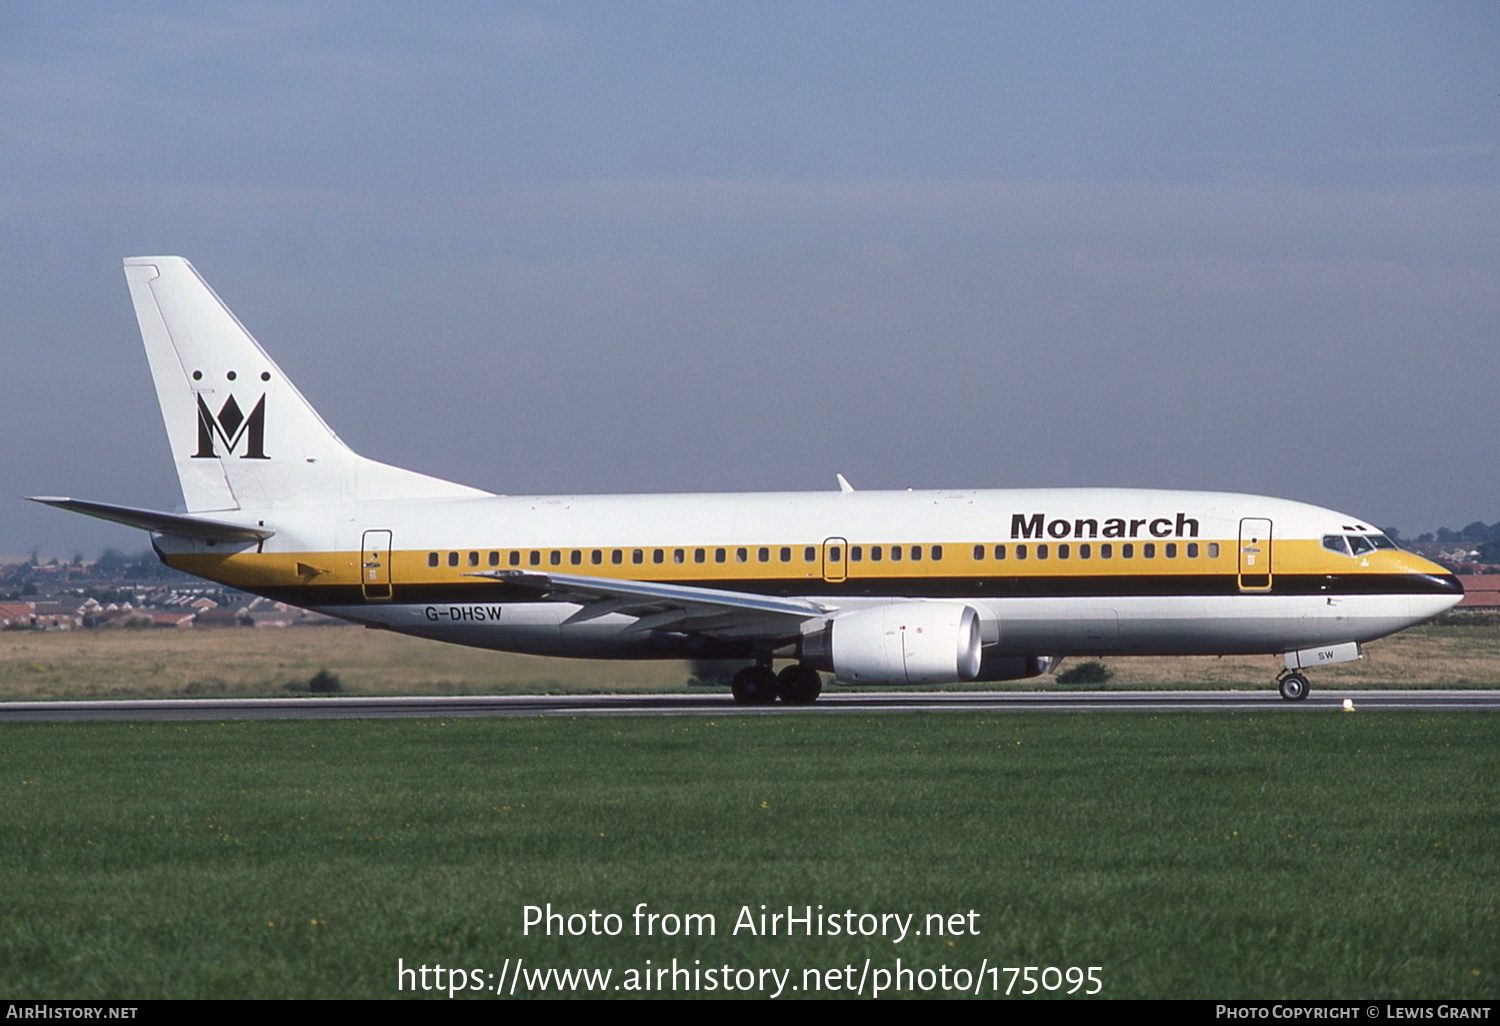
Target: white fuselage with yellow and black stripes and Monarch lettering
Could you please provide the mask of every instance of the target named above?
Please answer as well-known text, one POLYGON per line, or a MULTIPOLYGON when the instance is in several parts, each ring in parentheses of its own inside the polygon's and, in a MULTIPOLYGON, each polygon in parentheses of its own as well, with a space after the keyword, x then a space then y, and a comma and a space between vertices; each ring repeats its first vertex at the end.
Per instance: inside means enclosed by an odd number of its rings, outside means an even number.
MULTIPOLYGON (((1329 534, 1370 534, 1354 518, 1218 492, 477 496, 264 513, 276 537, 244 558, 310 561, 326 573, 270 588, 236 574, 240 586, 370 626, 537 654, 660 657, 702 646, 672 632, 630 633, 636 616, 624 614, 566 624, 580 603, 506 594, 474 573, 680 582, 810 598, 831 616, 892 600, 962 602, 980 614, 987 648, 1005 654, 1282 652, 1371 640, 1458 600, 1442 567, 1408 552, 1356 558, 1320 544, 1329 534), (1264 524, 1268 537, 1242 538, 1246 522, 1264 524), (352 586, 369 531, 390 532, 388 598, 352 586), (1254 558, 1242 549, 1257 544, 1262 564, 1242 566, 1254 558), (834 548, 842 554, 831 566, 834 548), (914 561, 914 549, 924 558, 914 561), (1245 570, 1262 568, 1269 582, 1246 584, 1245 570)), ((159 544, 172 562, 170 540, 159 544)), ((207 552, 200 543, 190 562, 207 552)))

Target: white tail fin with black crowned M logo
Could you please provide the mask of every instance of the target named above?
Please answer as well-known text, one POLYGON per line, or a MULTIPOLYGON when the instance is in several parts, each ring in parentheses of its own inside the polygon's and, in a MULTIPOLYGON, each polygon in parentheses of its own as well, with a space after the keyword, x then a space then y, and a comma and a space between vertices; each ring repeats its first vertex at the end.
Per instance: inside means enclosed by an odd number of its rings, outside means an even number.
POLYGON ((124 278, 189 512, 489 494, 351 452, 182 256, 124 278))

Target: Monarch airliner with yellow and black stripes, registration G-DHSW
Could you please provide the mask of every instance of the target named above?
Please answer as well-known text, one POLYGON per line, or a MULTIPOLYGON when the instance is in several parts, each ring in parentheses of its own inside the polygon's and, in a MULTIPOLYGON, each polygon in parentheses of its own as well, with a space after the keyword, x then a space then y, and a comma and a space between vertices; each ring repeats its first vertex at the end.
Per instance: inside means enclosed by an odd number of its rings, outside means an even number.
POLYGON ((1065 656, 1304 669, 1462 591, 1365 520, 1136 489, 507 496, 356 454, 180 256, 124 261, 184 513, 40 496, 171 567, 370 627, 591 658, 746 660, 740 702, 1035 676, 1065 656), (780 674, 772 660, 790 660, 780 674))

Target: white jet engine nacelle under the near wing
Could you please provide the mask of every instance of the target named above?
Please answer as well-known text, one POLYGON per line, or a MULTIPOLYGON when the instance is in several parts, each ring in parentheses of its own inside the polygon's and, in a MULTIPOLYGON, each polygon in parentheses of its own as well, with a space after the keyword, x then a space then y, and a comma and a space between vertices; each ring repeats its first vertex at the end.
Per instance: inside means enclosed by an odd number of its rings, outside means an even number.
POLYGON ((980 614, 946 602, 858 609, 828 626, 828 656, 844 684, 954 684, 980 672, 980 614))

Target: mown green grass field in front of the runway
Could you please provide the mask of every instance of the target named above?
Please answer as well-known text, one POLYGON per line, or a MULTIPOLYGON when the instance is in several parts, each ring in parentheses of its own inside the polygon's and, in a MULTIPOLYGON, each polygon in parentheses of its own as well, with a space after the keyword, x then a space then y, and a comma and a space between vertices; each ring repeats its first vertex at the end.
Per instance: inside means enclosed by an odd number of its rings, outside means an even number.
POLYGON ((518 957, 796 986, 868 957, 1494 999, 1497 753, 1494 716, 1282 710, 4 726, 0 993, 387 998, 398 958, 518 957), (522 936, 548 902, 626 934, 522 936), (717 933, 628 936, 639 902, 717 933), (980 934, 734 936, 762 903, 980 934))

